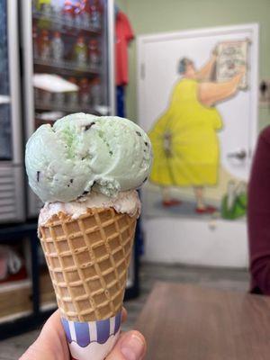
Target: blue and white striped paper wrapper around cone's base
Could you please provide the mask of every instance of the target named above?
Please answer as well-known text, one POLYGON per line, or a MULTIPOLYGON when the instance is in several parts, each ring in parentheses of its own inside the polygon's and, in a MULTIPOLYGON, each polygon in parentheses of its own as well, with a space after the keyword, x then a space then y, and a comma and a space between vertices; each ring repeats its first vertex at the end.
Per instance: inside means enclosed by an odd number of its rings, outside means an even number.
POLYGON ((119 337, 121 311, 106 320, 90 322, 69 321, 64 318, 61 320, 73 359, 103 360, 119 337))

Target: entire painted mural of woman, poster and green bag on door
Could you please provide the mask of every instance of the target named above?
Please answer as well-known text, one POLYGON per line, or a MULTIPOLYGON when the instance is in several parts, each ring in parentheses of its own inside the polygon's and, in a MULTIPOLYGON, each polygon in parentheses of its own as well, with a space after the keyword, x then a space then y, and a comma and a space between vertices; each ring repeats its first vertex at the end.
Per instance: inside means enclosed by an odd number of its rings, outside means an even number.
MULTIPOLYGON (((221 42, 202 68, 195 66, 194 58, 178 59, 178 78, 167 108, 149 131, 154 153, 149 180, 159 189, 159 210, 228 220, 245 215, 247 184, 224 175, 220 164, 219 133, 229 119, 222 117, 218 105, 248 91, 248 46, 248 40, 221 42), (205 193, 220 188, 221 182, 222 191, 211 202, 205 193), (188 189, 188 201, 181 197, 183 189, 188 189)), ((229 156, 238 161, 246 154, 229 156)))

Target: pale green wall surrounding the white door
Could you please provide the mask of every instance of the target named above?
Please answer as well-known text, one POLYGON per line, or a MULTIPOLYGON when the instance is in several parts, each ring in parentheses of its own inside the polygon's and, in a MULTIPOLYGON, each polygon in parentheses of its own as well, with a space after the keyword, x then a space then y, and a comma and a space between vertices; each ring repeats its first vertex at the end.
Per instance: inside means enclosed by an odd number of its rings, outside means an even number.
MULTIPOLYGON (((270 78, 270 0, 118 0, 136 35, 164 31, 259 23, 259 78, 270 78)), ((130 44, 127 117, 137 121, 136 40, 130 44)), ((270 123, 270 112, 259 109, 259 127, 270 123)))

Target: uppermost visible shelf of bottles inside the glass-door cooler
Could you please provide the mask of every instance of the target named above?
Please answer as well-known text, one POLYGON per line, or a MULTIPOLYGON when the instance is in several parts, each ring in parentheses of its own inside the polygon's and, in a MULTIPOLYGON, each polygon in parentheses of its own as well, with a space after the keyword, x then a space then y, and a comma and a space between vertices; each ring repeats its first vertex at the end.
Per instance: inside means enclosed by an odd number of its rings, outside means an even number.
MULTIPOLYGON (((54 25, 54 29, 55 31, 60 31, 60 32, 64 32, 66 33, 68 31, 69 35, 77 35, 78 31, 84 31, 84 32, 89 32, 91 34, 96 34, 96 35, 100 35, 102 33, 102 29, 100 28, 94 28, 93 26, 82 26, 82 25, 77 25, 76 22, 73 21, 69 21, 67 23, 67 21, 65 21, 65 19, 62 16, 59 16, 58 14, 44 14, 41 12, 34 12, 32 14, 33 19, 35 20, 40 20, 42 22, 48 22, 49 25, 54 25), (71 32, 70 32, 71 31, 71 32), (72 31, 76 31, 76 33, 72 32, 72 31)), ((51 26, 49 26, 50 28, 51 26)))

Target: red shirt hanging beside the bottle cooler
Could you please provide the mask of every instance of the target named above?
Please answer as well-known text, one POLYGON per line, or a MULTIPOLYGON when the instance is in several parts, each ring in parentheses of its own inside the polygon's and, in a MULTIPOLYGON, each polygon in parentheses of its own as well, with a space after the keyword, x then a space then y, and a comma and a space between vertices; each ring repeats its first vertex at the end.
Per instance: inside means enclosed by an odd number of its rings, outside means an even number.
POLYGON ((128 45, 134 39, 128 17, 121 11, 118 12, 115 24, 115 81, 116 85, 127 85, 129 82, 128 45))

